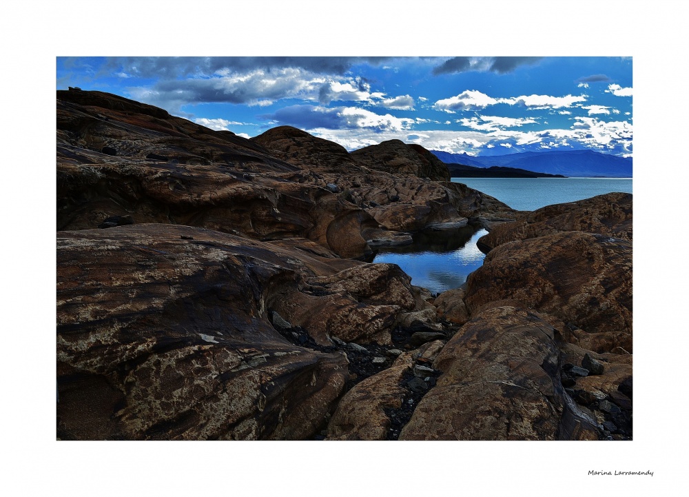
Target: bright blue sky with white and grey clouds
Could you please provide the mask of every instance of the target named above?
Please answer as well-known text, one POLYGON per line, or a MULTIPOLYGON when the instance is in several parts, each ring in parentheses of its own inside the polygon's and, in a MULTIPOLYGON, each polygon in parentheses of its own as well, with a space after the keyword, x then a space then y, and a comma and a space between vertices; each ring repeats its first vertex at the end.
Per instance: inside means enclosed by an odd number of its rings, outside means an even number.
POLYGON ((68 86, 241 136, 292 125, 348 150, 633 154, 630 57, 58 57, 68 86))

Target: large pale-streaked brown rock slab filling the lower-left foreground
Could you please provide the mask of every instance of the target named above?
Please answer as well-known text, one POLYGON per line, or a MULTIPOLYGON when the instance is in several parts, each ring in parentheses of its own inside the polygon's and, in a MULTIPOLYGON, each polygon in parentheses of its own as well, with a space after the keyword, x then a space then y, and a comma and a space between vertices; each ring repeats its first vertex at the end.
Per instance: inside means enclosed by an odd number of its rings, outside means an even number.
MULTIPOLYGON (((285 341, 268 320, 271 292, 349 267, 342 290, 376 303, 406 275, 391 280, 383 268, 382 279, 359 287, 356 270, 376 265, 314 254, 312 245, 176 225, 59 232, 59 436, 316 432, 345 385, 347 358, 285 341)), ((310 312, 328 319, 327 309, 310 312)))

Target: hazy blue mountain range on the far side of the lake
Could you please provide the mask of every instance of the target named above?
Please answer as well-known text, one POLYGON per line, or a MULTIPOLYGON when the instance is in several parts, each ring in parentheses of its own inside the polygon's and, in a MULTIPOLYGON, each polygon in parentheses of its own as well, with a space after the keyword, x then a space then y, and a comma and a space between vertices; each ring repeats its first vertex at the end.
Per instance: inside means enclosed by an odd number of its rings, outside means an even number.
MULTIPOLYGON (((525 172, 562 174, 564 176, 632 177, 632 159, 601 154, 591 150, 553 150, 495 156, 470 156, 467 154, 440 152, 438 150, 431 150, 431 152, 447 164, 452 176, 455 175, 453 170, 456 170, 452 165, 461 164, 473 166, 474 168, 492 168, 497 166, 500 168, 520 169, 525 172)), ((457 170, 457 172, 461 172, 461 170, 457 170)))

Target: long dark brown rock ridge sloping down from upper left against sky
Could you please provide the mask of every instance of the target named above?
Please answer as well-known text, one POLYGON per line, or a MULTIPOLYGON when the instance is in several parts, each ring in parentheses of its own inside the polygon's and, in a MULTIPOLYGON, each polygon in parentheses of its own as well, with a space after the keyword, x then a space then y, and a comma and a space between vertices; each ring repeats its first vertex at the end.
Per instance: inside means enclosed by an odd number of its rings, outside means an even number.
POLYGON ((467 222, 448 187, 416 176, 402 184, 296 128, 248 140, 76 90, 58 92, 57 128, 59 230, 128 216, 262 241, 307 238, 349 258, 371 254, 368 241, 397 244, 408 241, 400 232, 467 222))

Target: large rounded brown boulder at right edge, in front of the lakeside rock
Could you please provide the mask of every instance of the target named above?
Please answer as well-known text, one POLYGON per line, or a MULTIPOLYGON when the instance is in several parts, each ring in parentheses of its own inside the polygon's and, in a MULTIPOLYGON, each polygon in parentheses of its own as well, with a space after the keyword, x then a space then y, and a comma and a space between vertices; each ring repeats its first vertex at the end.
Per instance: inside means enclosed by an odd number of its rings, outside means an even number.
POLYGON ((593 352, 632 347, 632 246, 582 232, 504 243, 469 275, 473 315, 508 300, 566 323, 564 339, 593 352))

